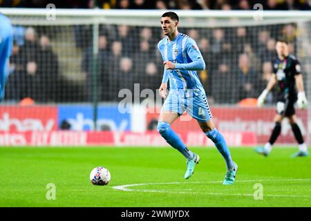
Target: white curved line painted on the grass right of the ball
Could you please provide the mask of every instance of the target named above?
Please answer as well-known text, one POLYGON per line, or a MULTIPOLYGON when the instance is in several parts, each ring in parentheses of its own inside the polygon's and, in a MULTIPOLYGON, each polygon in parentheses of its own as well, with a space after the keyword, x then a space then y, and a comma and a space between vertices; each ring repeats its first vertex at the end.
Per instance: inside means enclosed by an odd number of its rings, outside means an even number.
MULTIPOLYGON (((236 182, 294 182, 294 181, 311 181, 311 179, 288 179, 288 180, 238 180, 236 182)), ((170 185, 170 184, 204 184, 204 183, 222 183, 220 181, 198 181, 198 182, 153 182, 146 184, 126 184, 120 186, 112 186, 111 188, 119 191, 144 192, 144 193, 180 193, 180 194, 204 194, 204 195, 236 195, 236 196, 254 196, 251 193, 209 193, 209 192, 190 192, 190 191, 166 191, 166 190, 147 190, 147 189, 129 189, 132 186, 150 186, 150 185, 170 185)), ((265 197, 276 198, 311 198, 304 195, 272 195, 265 194, 265 197)))

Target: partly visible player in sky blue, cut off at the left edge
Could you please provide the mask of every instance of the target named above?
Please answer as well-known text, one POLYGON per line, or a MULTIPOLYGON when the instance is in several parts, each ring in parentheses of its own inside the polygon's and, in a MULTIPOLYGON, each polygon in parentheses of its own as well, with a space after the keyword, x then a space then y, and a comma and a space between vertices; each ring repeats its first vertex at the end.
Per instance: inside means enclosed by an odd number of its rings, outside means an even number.
POLYGON ((4 97, 8 66, 13 47, 13 30, 10 20, 0 13, 0 102, 4 97))

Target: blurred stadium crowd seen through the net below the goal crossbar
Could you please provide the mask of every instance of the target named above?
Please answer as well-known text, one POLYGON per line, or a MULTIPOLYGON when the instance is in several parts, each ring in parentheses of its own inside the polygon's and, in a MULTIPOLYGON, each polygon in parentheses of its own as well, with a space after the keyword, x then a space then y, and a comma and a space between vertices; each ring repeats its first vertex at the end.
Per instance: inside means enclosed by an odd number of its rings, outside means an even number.
MULTIPOLYGON (((73 31, 77 28, 82 26, 73 28, 73 31)), ((64 76, 59 66, 64 66, 62 63, 68 60, 59 60, 50 44, 50 38, 55 38, 49 35, 51 33, 28 27, 22 38, 15 36, 6 99, 18 101, 31 97, 44 103, 92 101, 92 32, 90 26, 84 26, 83 30, 84 35, 73 35, 75 47, 81 51, 79 68, 85 76, 83 84, 64 76)), ((209 102, 216 104, 236 104, 241 99, 257 97, 272 73, 270 61, 276 56, 276 38, 288 39, 290 50, 295 53, 298 35, 294 23, 238 28, 180 28, 180 32, 198 43, 207 64, 207 68, 198 75, 209 102)), ((134 83, 140 84, 140 90, 150 88, 156 91, 163 73, 162 58, 156 46, 162 37, 159 28, 101 26, 98 76, 95 80, 100 101, 117 101, 118 92, 122 88, 133 91, 134 83)), ((310 41, 305 46, 311 48, 310 41)), ((269 102, 274 102, 271 96, 269 102)))

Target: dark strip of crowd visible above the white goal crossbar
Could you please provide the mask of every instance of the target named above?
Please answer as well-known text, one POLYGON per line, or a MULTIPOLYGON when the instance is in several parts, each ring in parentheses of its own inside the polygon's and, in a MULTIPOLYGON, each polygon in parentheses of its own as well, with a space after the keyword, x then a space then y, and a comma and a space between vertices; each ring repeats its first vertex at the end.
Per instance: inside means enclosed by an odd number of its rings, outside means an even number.
MULTIPOLYGON (((0 7, 46 8, 48 0, 3 0, 0 7)), ((103 9, 180 9, 180 10, 252 10, 261 3, 264 10, 310 10, 310 0, 64 0, 56 8, 103 9)))

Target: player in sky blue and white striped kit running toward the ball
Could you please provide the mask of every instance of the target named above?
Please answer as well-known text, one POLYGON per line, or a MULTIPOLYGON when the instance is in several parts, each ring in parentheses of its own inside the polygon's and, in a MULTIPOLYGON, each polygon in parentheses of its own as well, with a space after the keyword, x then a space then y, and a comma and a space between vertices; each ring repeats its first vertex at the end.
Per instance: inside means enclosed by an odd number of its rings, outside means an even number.
POLYGON ((186 157, 185 179, 188 179, 194 173, 200 157, 191 152, 171 129, 171 124, 187 111, 198 121, 202 131, 214 142, 225 159, 227 173, 223 184, 233 184, 238 165, 232 160, 223 135, 217 131, 211 120, 205 90, 196 74, 196 70, 205 69, 205 61, 194 39, 178 32, 178 24, 179 18, 175 12, 165 12, 162 15, 162 31, 167 37, 158 44, 164 61, 164 75, 159 93, 165 101, 160 112, 158 131, 167 143, 186 157), (169 95, 167 95, 168 80, 169 95))

